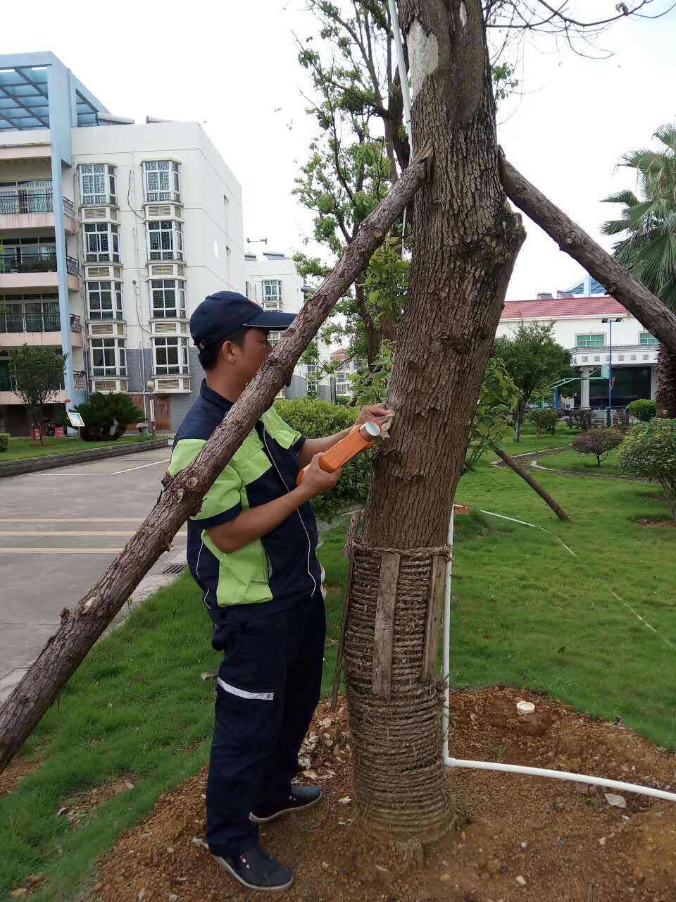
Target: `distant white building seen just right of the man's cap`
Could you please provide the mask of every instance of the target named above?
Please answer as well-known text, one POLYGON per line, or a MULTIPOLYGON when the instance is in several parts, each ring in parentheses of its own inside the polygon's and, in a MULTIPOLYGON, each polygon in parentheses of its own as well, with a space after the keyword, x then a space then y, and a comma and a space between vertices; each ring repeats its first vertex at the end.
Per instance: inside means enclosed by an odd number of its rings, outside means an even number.
MULTIPOLYGON (((247 298, 255 300, 266 310, 298 313, 311 292, 298 274, 296 263, 285 253, 264 251, 262 256, 245 253, 244 280, 247 298)), ((276 345, 280 337, 281 333, 270 332, 270 344, 276 345)), ((297 398, 307 394, 331 400, 330 379, 320 372, 321 365, 329 360, 328 345, 317 339, 317 351, 317 363, 298 363, 291 384, 279 392, 279 398, 297 398)))

